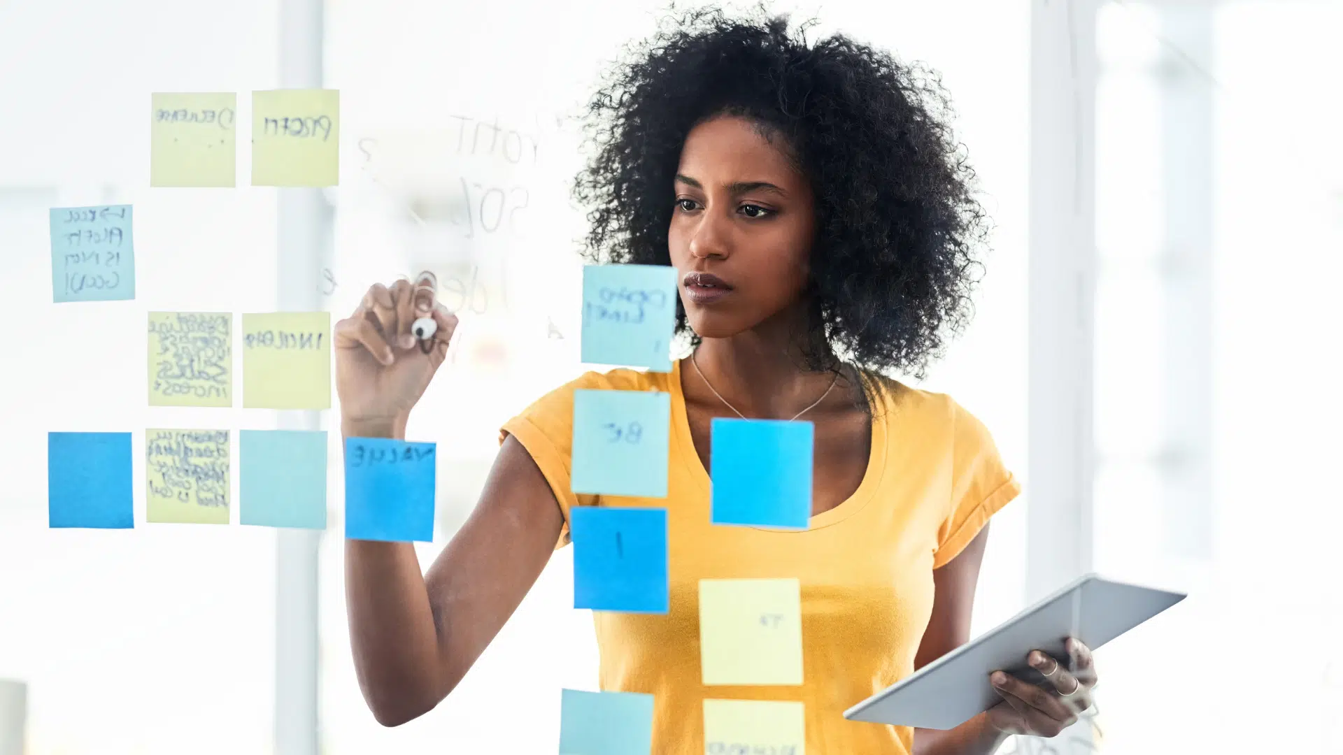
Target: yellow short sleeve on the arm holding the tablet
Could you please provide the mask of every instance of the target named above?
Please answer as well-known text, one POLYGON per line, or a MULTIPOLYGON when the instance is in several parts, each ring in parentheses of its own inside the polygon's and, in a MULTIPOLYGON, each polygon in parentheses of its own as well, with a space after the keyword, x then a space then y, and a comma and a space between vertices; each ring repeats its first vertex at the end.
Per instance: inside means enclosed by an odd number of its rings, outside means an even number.
POLYGON ((937 528, 933 568, 951 563, 979 535, 988 517, 1021 494, 1021 482, 998 455, 988 429, 951 402, 951 501, 937 528))

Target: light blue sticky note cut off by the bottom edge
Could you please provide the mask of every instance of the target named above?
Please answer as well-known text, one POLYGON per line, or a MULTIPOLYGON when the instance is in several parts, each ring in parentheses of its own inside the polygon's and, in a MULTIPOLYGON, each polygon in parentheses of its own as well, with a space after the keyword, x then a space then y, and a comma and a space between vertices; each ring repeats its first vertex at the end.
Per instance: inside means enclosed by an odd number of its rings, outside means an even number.
POLYGON ((560 697, 560 755, 649 755, 653 696, 642 692, 580 692, 560 697))

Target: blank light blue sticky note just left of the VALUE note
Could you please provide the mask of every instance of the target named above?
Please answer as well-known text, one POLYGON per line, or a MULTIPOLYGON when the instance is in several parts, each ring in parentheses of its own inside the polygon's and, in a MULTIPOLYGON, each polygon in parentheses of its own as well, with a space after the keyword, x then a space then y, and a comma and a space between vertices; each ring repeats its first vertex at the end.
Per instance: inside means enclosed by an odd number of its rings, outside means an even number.
POLYGON ((243 524, 326 529, 325 430, 243 430, 238 461, 243 524))

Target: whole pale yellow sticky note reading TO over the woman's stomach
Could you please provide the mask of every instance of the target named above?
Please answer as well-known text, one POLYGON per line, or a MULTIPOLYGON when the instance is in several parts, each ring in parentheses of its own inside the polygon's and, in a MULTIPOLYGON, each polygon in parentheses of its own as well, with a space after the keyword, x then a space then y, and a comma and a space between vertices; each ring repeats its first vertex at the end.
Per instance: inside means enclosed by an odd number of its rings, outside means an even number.
POLYGON ((701 579, 700 662, 704 684, 802 684, 800 583, 701 579))

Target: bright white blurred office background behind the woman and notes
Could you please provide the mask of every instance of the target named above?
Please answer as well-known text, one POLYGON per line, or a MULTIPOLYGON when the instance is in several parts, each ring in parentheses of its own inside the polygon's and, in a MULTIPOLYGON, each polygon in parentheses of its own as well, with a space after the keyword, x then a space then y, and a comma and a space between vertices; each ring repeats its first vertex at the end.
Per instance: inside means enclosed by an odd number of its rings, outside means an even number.
MULTIPOLYGON (((1026 488, 994 520, 974 633, 1085 571, 1190 592, 1097 653, 1085 743, 1005 751, 1343 752, 1326 476, 1343 450, 1343 7, 772 8, 939 70, 995 222, 974 324, 915 382, 983 419, 1026 488)), ((575 116, 663 9, 0 0, 0 755, 555 751, 560 688, 596 688, 571 549, 447 701, 384 729, 346 635, 336 410, 308 419, 332 451, 312 536, 144 527, 140 484, 136 529, 51 531, 46 434, 293 426, 149 408, 145 312, 310 301, 340 318, 372 282, 435 270, 463 324, 408 429, 441 447, 427 567, 498 426, 584 369, 575 116), (302 60, 340 90, 338 188, 250 187, 242 138, 236 189, 148 188, 150 93, 236 91, 247 124, 248 93, 293 85, 302 60), (298 270, 293 197, 318 200, 298 270), (94 203, 134 204, 137 298, 52 305, 47 210, 94 203)))

